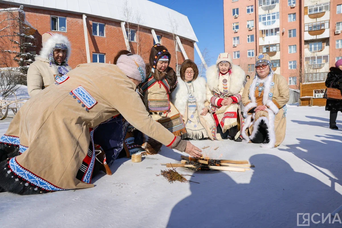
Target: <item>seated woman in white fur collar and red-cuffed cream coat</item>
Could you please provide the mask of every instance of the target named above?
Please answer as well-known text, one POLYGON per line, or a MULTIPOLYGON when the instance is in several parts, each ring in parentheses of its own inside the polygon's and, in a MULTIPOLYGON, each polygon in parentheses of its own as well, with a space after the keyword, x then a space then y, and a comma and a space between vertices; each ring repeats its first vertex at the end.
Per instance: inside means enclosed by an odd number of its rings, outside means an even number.
POLYGON ((244 91, 245 72, 232 63, 231 55, 221 53, 216 64, 208 68, 206 77, 207 101, 215 120, 214 139, 222 140, 229 135, 234 141, 242 142, 244 120, 238 103, 244 91))

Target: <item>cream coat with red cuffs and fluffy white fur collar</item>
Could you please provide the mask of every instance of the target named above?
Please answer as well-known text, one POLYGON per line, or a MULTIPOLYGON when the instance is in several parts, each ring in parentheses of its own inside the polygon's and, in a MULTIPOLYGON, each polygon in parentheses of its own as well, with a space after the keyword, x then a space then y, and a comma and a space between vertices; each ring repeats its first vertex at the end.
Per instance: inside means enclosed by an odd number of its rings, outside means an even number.
MULTIPOLYGON (((239 102, 244 90, 245 72, 239 66, 231 64, 231 75, 218 76, 218 66, 213 65, 206 72, 207 77, 207 101, 211 104, 210 112, 216 115, 223 132, 238 126, 238 133, 235 135, 237 139, 241 135, 241 125, 243 125, 243 117, 241 115, 239 102), (227 78, 227 79, 226 79, 227 78), (224 83, 225 82, 225 83, 224 83), (224 90, 224 87, 227 87, 224 90), (232 97, 235 102, 231 105, 221 106, 222 99, 232 97)), ((216 128, 216 125, 214 126, 216 128)), ((216 129, 213 130, 214 138, 220 140, 219 135, 216 136, 216 129)))

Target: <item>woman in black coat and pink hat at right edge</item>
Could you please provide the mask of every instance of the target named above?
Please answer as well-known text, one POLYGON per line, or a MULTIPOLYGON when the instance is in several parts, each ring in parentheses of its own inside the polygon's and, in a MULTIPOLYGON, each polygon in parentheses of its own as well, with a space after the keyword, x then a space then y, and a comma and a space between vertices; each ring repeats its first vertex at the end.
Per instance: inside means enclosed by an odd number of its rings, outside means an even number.
MULTIPOLYGON (((335 67, 330 67, 330 72, 328 73, 325 85, 328 88, 332 85, 332 88, 342 90, 342 59, 335 63, 335 67)), ((325 110, 330 111, 330 128, 338 130, 336 118, 338 111, 342 112, 342 100, 327 100, 325 110)))

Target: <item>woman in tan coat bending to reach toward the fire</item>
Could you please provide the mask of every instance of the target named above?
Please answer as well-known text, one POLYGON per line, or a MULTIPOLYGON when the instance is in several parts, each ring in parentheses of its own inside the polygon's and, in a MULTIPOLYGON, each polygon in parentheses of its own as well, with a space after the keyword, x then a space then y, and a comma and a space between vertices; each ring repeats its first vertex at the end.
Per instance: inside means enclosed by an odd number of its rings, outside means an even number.
MULTIPOLYGON (((0 192, 30 195, 94 187, 94 131, 120 114, 171 149, 201 157, 199 148, 146 111, 135 91, 144 72, 139 55, 122 55, 117 65, 80 64, 29 99, 0 138, 0 192)), ((114 130, 123 137, 122 126, 114 130)))

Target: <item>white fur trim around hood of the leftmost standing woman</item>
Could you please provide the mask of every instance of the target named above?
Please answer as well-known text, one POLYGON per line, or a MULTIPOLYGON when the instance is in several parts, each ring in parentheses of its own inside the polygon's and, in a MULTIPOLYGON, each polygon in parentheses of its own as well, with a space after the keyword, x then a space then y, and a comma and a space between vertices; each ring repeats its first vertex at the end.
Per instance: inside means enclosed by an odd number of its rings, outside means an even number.
POLYGON ((65 36, 55 33, 51 38, 48 39, 48 41, 46 41, 44 43, 43 48, 40 50, 39 52, 39 56, 36 57, 36 59, 39 59, 40 61, 43 61, 42 59, 44 59, 44 62, 49 62, 49 53, 51 52, 51 50, 54 48, 54 46, 57 43, 63 43, 67 46, 68 48, 68 58, 70 59, 71 56, 71 44, 68 40, 68 38, 66 38, 65 36))

